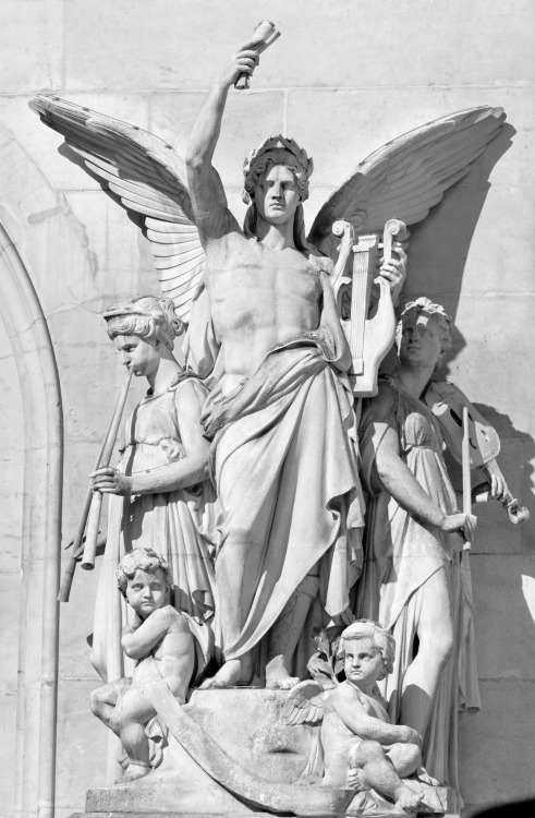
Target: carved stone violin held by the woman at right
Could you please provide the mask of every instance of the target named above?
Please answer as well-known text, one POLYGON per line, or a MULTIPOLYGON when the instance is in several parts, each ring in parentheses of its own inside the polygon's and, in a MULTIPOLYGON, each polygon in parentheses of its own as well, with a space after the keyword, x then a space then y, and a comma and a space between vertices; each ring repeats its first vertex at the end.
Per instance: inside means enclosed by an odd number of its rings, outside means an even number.
MULTIPOLYGON (((516 497, 513 497, 511 494, 496 460, 500 452, 500 438, 496 430, 472 406, 461 389, 446 381, 434 382, 427 388, 425 402, 440 423, 448 449, 461 465, 463 464, 462 438, 464 413, 465 426, 467 426, 465 430, 467 445, 465 444, 464 459, 469 456, 471 469, 485 467, 489 474, 494 474, 502 481, 504 492, 500 498, 500 503, 507 509, 511 522, 518 525, 519 522, 528 520, 530 512, 520 505, 516 497)), ((478 489, 476 490, 477 502, 485 502, 490 498, 490 486, 488 483, 478 489)))

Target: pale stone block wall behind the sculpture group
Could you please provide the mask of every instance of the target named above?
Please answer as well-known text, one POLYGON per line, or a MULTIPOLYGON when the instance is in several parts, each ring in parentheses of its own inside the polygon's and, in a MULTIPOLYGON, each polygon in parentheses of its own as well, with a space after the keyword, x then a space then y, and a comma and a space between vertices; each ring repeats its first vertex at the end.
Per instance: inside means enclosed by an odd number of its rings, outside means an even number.
MULTIPOLYGON (((156 278, 136 225, 58 153, 61 137, 29 111, 28 98, 54 91, 154 131, 183 154, 211 79, 260 17, 272 19, 283 36, 263 56, 253 89, 231 94, 216 155, 236 216, 244 213, 243 157, 270 133, 294 136, 314 157, 306 205, 311 225, 327 194, 387 140, 472 105, 506 109, 510 124, 502 136, 413 229, 406 292, 424 292, 454 315, 449 376, 498 429, 503 472, 535 516, 533 2, 3 0, 0 124, 7 135, 0 142, 16 144, 70 225, 69 231, 58 229, 56 241, 49 232, 45 240, 41 189, 21 185, 21 173, 8 172, 0 219, 10 230, 21 210, 32 228, 19 248, 32 260, 60 370, 64 541, 76 528, 86 474, 121 380, 100 313, 122 299, 156 291, 156 278)), ((0 165, 12 161, 4 156, 0 165)), ((9 736, 0 746, 4 818, 13 815, 15 795, 24 423, 19 375, 1 322, 0 360, 0 723, 9 736)), ((132 402, 142 392, 137 384, 132 402)), ((483 711, 460 730, 466 815, 484 804, 535 795, 534 526, 513 528, 500 507, 483 508, 479 518, 472 566, 483 711)), ((86 642, 97 578, 98 566, 93 574, 78 570, 71 602, 61 608, 60 818, 81 810, 87 787, 105 777, 105 730, 88 710, 88 694, 98 684, 86 642)), ((27 613, 36 658, 38 613, 38 605, 27 613)))

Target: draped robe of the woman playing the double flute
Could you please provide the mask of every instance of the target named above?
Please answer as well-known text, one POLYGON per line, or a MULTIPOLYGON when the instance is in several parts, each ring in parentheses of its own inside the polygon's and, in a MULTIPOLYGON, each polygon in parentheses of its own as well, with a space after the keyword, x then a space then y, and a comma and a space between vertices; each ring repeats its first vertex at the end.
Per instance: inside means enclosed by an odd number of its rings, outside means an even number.
MULTIPOLYGON (((125 423, 118 469, 133 474, 159 468, 184 456, 175 395, 189 383, 200 399, 197 378, 178 378, 156 395, 150 392, 125 423)), ((210 651, 215 609, 212 567, 216 498, 209 481, 172 492, 133 496, 110 495, 108 537, 95 605, 92 663, 105 682, 131 675, 132 662, 121 648, 123 626, 132 610, 117 587, 115 572, 124 553, 150 548, 169 564, 175 606, 185 613, 204 662, 210 651)))

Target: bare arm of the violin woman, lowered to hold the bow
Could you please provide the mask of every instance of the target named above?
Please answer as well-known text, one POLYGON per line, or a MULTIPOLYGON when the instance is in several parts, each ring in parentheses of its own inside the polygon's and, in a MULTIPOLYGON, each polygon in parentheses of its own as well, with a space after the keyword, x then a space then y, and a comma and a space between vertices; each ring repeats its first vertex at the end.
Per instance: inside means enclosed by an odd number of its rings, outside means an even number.
POLYGON ((446 515, 424 491, 400 456, 398 432, 389 425, 382 435, 378 433, 377 437, 380 437, 375 456, 377 473, 385 489, 400 506, 440 531, 457 531, 463 528, 466 536, 472 534, 475 517, 466 514, 446 515))

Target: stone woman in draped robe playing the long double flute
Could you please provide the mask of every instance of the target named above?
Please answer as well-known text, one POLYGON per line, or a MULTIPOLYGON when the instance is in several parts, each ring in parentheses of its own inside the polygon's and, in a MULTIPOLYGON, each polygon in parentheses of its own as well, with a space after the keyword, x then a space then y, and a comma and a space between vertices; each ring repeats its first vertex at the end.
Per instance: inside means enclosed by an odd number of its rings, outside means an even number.
POLYGON ((105 313, 108 335, 146 397, 125 423, 118 468, 93 472, 110 494, 108 536, 95 610, 92 662, 106 682, 125 674, 121 631, 126 608, 115 569, 132 549, 151 548, 169 563, 174 604, 197 623, 214 615, 215 493, 207 480, 209 444, 200 408, 206 389, 174 359, 182 330, 170 299, 145 297, 105 313))

